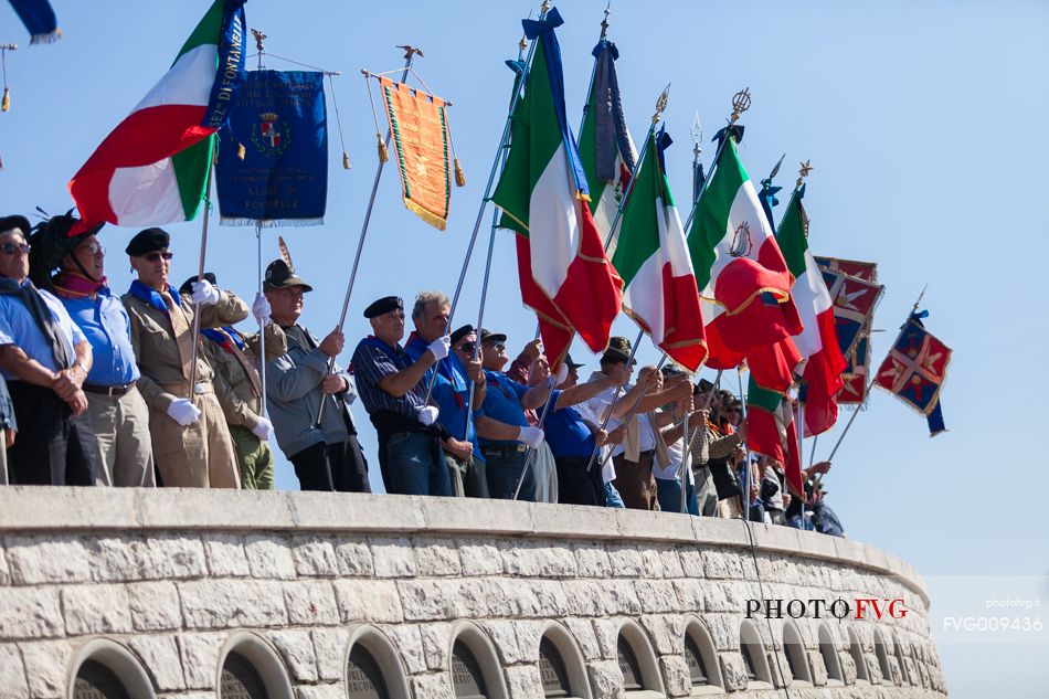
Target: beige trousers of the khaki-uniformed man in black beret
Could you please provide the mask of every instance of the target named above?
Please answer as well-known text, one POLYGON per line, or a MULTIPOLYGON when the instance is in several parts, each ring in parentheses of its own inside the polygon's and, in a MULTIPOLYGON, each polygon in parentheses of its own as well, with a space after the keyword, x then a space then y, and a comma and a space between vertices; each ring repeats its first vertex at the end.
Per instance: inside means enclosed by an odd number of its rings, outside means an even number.
MULTIPOLYGON (((168 389, 168 386, 165 386, 168 389)), ((240 488, 233 438, 213 392, 193 396, 200 420, 183 427, 163 410, 149 411, 153 459, 168 488, 240 488)))

